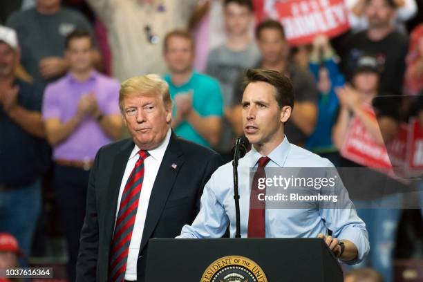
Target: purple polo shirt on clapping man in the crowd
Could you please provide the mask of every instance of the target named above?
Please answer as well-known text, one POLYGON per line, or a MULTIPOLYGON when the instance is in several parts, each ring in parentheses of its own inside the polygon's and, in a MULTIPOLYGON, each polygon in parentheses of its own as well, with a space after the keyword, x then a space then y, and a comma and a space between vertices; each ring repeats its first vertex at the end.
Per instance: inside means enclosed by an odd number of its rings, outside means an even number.
MULTIPOLYGON (((82 95, 95 93, 100 111, 104 115, 120 113, 120 84, 116 79, 93 71, 85 82, 77 81, 71 73, 48 84, 44 92, 43 120, 59 118, 62 123, 73 118, 82 95)), ((98 149, 112 140, 100 124, 86 115, 77 129, 62 143, 53 147, 54 160, 94 160, 98 149)))

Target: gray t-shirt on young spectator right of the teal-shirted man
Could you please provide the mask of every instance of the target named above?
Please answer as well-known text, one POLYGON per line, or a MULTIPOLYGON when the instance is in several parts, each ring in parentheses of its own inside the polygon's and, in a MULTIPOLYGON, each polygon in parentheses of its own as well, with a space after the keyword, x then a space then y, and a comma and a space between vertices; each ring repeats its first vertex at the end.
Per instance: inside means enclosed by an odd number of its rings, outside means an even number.
MULTIPOLYGON (((207 57, 206 73, 215 77, 220 82, 223 90, 223 102, 225 107, 231 108, 238 104, 234 96, 234 86, 238 77, 245 71, 257 64, 260 58, 256 44, 250 44, 245 50, 234 51, 225 45, 214 48, 207 57)), ((221 153, 229 152, 234 142, 234 131, 227 120, 223 120, 222 135, 220 142, 215 148, 221 153)))

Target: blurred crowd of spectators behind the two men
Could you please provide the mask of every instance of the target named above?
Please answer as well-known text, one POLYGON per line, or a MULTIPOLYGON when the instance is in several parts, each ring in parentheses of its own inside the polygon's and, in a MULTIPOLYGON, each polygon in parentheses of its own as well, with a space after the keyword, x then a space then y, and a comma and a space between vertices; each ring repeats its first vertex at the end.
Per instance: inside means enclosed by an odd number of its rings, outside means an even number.
POLYGON ((336 167, 420 179, 394 182, 411 199, 357 197, 371 251, 346 281, 423 281, 422 22, 421 0, 1 1, 0 267, 75 279, 95 153, 129 136, 120 82, 162 75, 173 131, 228 162, 243 71, 266 68, 292 80, 291 143, 336 167), (382 198, 414 208, 370 207, 382 198))

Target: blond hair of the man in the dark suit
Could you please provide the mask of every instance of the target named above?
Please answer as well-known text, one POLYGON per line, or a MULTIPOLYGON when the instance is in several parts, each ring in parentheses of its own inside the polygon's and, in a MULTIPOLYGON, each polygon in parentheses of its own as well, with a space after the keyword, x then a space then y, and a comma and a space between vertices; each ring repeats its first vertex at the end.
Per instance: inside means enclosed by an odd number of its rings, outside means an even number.
POLYGON ((161 95, 164 106, 167 109, 171 109, 172 100, 169 93, 169 85, 160 75, 140 75, 131 77, 122 82, 119 91, 119 107, 122 113, 124 111, 124 97, 135 95, 161 95))

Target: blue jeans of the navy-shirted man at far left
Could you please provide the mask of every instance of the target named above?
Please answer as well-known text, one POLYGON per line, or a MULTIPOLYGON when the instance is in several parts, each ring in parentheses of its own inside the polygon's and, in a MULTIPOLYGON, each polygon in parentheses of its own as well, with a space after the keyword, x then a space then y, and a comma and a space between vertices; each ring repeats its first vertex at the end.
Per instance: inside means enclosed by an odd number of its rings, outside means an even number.
POLYGON ((26 259, 31 254, 32 236, 41 213, 41 180, 0 192, 0 232, 17 238, 26 259))

